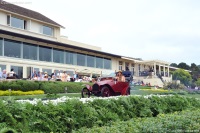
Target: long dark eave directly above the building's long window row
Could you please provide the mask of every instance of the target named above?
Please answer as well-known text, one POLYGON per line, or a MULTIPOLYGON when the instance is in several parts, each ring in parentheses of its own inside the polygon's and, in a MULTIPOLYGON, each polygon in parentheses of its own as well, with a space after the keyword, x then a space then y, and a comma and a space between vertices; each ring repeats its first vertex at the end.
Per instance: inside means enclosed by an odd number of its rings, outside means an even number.
POLYGON ((79 49, 79 50, 83 50, 83 51, 87 51, 87 52, 93 52, 93 53, 112 56, 112 57, 117 57, 117 58, 121 58, 122 57, 120 55, 115 55, 115 54, 111 54, 111 53, 107 53, 107 52, 102 52, 102 51, 92 50, 92 49, 88 49, 88 48, 73 46, 73 45, 66 44, 66 43, 46 40, 46 39, 37 38, 37 37, 33 37, 33 36, 28 36, 28 35, 24 35, 24 34, 14 33, 14 32, 2 30, 2 29, 0 29, 0 34, 10 35, 10 36, 19 37, 19 38, 25 38, 25 39, 29 39, 29 40, 33 40, 33 41, 42 42, 42 43, 53 44, 53 45, 56 45, 56 46, 63 46, 63 47, 67 47, 67 48, 79 49))

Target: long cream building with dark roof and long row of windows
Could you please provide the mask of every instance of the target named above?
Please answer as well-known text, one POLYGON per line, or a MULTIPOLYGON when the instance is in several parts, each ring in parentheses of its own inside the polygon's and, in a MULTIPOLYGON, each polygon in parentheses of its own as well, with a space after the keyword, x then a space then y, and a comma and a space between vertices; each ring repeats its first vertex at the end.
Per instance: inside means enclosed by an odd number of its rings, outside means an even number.
POLYGON ((46 71, 49 75, 54 70, 70 74, 77 71, 80 75, 92 76, 128 67, 134 74, 135 82, 146 80, 158 85, 161 79, 172 79, 169 62, 124 57, 103 52, 100 47, 69 40, 60 35, 60 28, 64 27, 48 17, 2 0, 0 2, 2 70, 9 72, 14 68, 20 78, 28 78, 33 70, 46 71), (149 77, 151 70, 154 73, 149 77))

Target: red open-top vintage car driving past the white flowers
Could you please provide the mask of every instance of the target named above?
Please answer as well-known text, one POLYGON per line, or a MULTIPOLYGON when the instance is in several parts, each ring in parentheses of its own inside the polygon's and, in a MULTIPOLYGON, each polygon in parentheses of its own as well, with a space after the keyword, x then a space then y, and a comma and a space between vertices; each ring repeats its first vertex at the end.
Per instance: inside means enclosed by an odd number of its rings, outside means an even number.
POLYGON ((102 77, 92 86, 86 85, 82 89, 82 98, 90 97, 91 95, 109 97, 117 95, 130 95, 129 82, 118 82, 110 77, 102 77))

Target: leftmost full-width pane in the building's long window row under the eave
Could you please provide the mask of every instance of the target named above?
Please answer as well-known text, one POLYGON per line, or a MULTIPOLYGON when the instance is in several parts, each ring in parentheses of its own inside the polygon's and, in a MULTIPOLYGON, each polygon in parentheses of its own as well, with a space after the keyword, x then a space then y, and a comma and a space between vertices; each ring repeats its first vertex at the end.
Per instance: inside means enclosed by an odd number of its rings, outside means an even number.
POLYGON ((21 42, 5 40, 4 41, 4 55, 8 57, 21 57, 21 42))

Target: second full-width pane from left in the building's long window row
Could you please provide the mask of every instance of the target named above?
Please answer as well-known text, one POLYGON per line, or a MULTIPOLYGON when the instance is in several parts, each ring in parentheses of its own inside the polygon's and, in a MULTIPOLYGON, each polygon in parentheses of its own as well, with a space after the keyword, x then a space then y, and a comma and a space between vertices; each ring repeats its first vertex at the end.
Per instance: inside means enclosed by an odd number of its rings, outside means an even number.
POLYGON ((23 45, 23 58, 37 60, 37 45, 24 43, 23 45))

